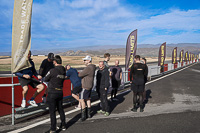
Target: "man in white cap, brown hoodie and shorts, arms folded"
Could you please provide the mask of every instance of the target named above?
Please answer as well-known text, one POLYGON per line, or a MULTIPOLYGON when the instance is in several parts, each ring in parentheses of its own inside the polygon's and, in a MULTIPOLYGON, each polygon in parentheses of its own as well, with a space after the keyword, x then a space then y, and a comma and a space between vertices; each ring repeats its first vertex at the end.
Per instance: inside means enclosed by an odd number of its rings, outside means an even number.
POLYGON ((96 66, 92 64, 92 58, 87 55, 85 58, 83 58, 83 61, 86 65, 86 68, 83 69, 79 73, 79 77, 82 79, 82 91, 80 94, 80 102, 81 102, 81 120, 86 120, 86 105, 87 103, 87 116, 88 118, 91 118, 90 110, 91 110, 91 91, 93 87, 94 82, 94 75, 96 66))

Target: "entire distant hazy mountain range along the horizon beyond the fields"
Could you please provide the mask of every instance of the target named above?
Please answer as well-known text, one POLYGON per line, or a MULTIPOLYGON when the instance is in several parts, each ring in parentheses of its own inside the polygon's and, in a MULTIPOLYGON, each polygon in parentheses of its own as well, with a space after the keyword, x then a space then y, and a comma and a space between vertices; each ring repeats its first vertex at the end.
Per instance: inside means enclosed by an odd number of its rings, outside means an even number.
MULTIPOLYGON (((157 57, 159 47, 161 44, 138 44, 137 54, 141 56, 157 57)), ((200 53, 200 43, 178 43, 178 44, 167 44, 167 57, 172 54, 173 48, 178 47, 180 50, 189 51, 194 54, 200 53)), ((59 48, 59 49, 48 49, 48 50, 32 50, 33 55, 47 55, 49 52, 59 54, 63 56, 103 56, 104 53, 110 53, 111 55, 125 55, 125 45, 98 45, 98 46, 84 46, 74 48, 59 48)), ((0 56, 10 56, 11 52, 0 52, 0 56)), ((179 53, 178 53, 179 55, 179 53)))

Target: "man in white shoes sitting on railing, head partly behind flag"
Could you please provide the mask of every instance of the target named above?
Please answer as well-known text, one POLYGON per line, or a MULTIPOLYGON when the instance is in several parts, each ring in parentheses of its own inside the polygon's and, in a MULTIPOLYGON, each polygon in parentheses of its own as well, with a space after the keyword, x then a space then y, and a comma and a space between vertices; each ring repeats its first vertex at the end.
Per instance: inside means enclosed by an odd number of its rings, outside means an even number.
POLYGON ((34 99, 44 89, 44 85, 42 85, 38 80, 36 80, 33 77, 33 75, 35 75, 37 77, 38 74, 35 70, 34 62, 31 59, 31 51, 29 51, 28 59, 31 64, 31 67, 15 73, 15 75, 18 76, 19 83, 21 84, 22 89, 23 89, 23 91, 22 91, 23 99, 22 99, 22 104, 21 104, 22 108, 26 107, 26 95, 27 95, 27 92, 29 89, 28 85, 30 85, 33 88, 37 88, 33 97, 28 101, 28 103, 31 104, 32 106, 38 106, 36 104, 36 102, 34 101, 34 99))

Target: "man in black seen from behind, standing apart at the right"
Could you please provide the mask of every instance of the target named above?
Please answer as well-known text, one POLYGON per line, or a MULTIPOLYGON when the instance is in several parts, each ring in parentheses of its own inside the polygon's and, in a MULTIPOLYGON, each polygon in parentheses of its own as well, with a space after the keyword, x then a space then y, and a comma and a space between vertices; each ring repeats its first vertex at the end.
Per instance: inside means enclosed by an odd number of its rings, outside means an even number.
POLYGON ((146 64, 140 62, 140 56, 136 55, 134 58, 134 63, 131 66, 130 71, 130 83, 131 90, 133 91, 133 112, 137 112, 137 95, 139 95, 139 106, 140 112, 144 111, 143 108, 143 92, 144 92, 144 77, 148 74, 148 68, 146 64))

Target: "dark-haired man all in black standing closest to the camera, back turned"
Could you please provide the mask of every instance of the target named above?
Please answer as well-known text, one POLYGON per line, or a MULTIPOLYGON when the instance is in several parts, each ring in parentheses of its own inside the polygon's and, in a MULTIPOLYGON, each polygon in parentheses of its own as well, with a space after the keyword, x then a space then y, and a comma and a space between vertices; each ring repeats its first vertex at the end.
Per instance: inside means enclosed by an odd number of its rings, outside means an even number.
POLYGON ((66 71, 62 66, 62 59, 56 55, 53 60, 55 68, 51 69, 45 76, 45 82, 48 82, 47 104, 49 105, 49 113, 51 119, 50 132, 56 132, 56 109, 60 114, 61 124, 60 130, 66 130, 65 114, 63 110, 63 82, 65 80, 66 71))

